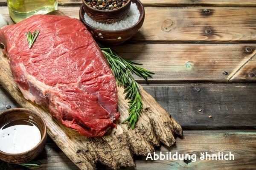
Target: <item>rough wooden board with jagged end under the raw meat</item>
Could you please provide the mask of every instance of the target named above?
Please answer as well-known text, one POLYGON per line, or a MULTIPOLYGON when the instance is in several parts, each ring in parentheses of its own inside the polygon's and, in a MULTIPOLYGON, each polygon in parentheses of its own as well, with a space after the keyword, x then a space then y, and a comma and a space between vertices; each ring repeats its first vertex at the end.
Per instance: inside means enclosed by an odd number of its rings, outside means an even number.
MULTIPOLYGON (((51 14, 64 15, 59 11, 51 14)), ((121 124, 128 116, 128 101, 124 99, 123 88, 118 88, 118 111, 120 122, 102 138, 87 138, 76 130, 65 127, 52 118, 49 110, 26 100, 13 80, 9 59, 0 50, 0 84, 23 107, 36 111, 45 120, 48 135, 61 150, 81 169, 94 170, 96 162, 113 169, 121 166, 135 166, 133 155, 146 156, 154 151, 160 142, 167 146, 175 143, 174 135, 182 135, 180 125, 156 100, 142 89, 143 114, 134 130, 121 124)))

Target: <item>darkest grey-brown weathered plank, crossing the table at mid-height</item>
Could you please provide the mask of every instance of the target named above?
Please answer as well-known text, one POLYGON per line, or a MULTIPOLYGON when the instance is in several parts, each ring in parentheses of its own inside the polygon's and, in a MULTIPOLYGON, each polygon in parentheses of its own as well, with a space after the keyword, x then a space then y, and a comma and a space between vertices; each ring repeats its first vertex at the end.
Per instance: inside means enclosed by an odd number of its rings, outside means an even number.
MULTIPOLYGON (((256 84, 143 84, 143 88, 183 129, 256 127, 256 95, 252 95, 256 84)), ((6 105, 18 107, 0 88, 0 111, 6 110, 6 105)))

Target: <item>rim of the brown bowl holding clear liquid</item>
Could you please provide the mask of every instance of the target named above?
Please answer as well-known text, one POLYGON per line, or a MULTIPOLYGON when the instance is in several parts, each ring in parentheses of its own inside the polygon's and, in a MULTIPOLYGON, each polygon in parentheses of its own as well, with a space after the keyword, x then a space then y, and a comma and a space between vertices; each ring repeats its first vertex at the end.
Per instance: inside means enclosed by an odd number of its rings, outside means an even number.
POLYGON ((44 127, 44 129, 43 129, 44 131, 43 131, 43 134, 42 134, 42 137, 41 137, 40 142, 39 142, 37 145, 35 145, 35 147, 33 147, 32 149, 27 150, 27 151, 22 152, 22 153, 7 153, 7 152, 3 152, 3 151, 0 150, 0 154, 2 154, 2 155, 23 156, 23 155, 26 155, 27 153, 29 153, 29 152, 31 152, 31 151, 33 151, 33 150, 36 150, 41 144, 44 143, 44 140, 45 140, 46 137, 47 137, 47 127, 46 127, 45 121, 44 121, 44 119, 43 119, 42 116, 40 116, 40 115, 39 115, 38 113, 36 113, 35 111, 29 110, 29 109, 26 109, 26 108, 13 108, 13 109, 8 109, 8 110, 3 111, 2 113, 0 113, 0 116, 3 116, 4 114, 8 114, 9 112, 13 112, 13 111, 24 111, 24 112, 26 112, 26 113, 31 114, 32 116, 35 116, 35 115, 38 116, 39 119, 41 119, 41 123, 42 123, 42 125, 43 125, 43 127, 44 127))

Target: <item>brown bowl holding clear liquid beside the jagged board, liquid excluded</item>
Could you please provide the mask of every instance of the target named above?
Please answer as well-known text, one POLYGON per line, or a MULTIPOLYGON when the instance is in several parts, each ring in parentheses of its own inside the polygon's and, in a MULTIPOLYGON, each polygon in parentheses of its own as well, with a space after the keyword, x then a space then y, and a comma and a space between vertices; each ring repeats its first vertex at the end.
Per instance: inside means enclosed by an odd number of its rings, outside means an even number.
POLYGON ((28 150, 23 153, 5 153, 0 150, 0 159, 9 163, 22 164, 35 159, 42 150, 44 149, 46 140, 47 140, 47 130, 44 119, 39 116, 34 111, 24 109, 24 108, 15 108, 9 109, 0 113, 0 125, 1 127, 7 122, 15 120, 30 120, 37 125, 41 133, 41 141, 33 147, 31 150, 28 150))

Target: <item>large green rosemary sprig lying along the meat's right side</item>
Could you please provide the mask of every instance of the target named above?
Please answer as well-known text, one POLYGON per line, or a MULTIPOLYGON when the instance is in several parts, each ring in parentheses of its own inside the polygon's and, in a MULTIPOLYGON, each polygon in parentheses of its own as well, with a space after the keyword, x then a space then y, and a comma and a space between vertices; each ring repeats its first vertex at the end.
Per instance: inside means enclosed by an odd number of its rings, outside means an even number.
POLYGON ((128 122, 128 127, 134 129, 138 117, 142 113, 143 103, 141 99, 140 86, 135 81, 134 77, 132 77, 131 73, 134 73, 139 77, 143 77, 145 80, 147 80, 148 77, 152 77, 154 73, 136 66, 142 65, 142 63, 123 59, 117 55, 115 51, 111 50, 111 48, 104 48, 100 44, 99 46, 101 47, 102 53, 108 60, 108 63, 113 71, 113 75, 116 78, 117 85, 125 88, 125 99, 130 100, 128 102, 129 116, 122 123, 128 122))

